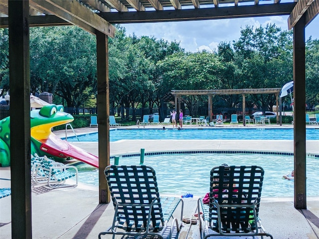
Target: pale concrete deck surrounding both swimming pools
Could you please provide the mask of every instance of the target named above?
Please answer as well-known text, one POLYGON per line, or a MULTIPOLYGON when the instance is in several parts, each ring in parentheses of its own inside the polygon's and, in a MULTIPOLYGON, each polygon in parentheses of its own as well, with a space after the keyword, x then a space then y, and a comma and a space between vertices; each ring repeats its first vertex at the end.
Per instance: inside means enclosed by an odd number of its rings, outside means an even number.
MULTIPOLYGON (((291 125, 271 126, 292 127, 291 125)), ((129 128, 137 127, 134 125, 129 128)), ((97 128, 75 130, 80 134, 97 131, 97 128)), ((61 137, 65 136, 64 130, 54 133, 61 137)), ((71 131, 68 131, 68 135, 72 135, 71 131)), ((98 155, 98 143, 75 142, 74 144, 98 155)), ((307 152, 319 154, 318 146, 319 140, 307 141, 307 152)), ((292 140, 121 140, 110 143, 110 154, 136 153, 140 152, 141 148, 145 148, 146 152, 212 149, 293 152, 294 145, 292 140)), ((0 168, 0 175, 0 187, 10 187, 10 168, 0 168)), ((50 189, 43 185, 32 184, 31 195, 34 239, 97 239, 98 234, 108 228, 113 220, 113 205, 98 203, 97 187, 79 184, 76 188, 50 189)), ((284 197, 262 197, 259 216, 266 231, 275 239, 319 239, 319 196, 307 197, 307 210, 296 210, 293 200, 284 197)), ((184 201, 184 215, 191 216, 196 210, 196 199, 184 201)), ((11 197, 0 199, 1 239, 11 238, 10 210, 11 197)), ((111 237, 105 238, 111 239, 111 237)), ((179 239, 200 239, 198 225, 184 225, 179 239)))

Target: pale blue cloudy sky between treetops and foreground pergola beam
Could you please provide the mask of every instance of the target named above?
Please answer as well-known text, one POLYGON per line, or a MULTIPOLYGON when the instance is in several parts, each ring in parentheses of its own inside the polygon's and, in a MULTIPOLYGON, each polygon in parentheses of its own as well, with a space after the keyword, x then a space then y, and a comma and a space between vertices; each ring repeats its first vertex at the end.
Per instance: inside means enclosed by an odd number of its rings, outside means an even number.
MULTIPOLYGON (((164 23, 130 23, 122 24, 128 35, 154 36, 167 41, 180 41, 186 51, 197 52, 216 49, 221 41, 231 42, 240 37, 241 27, 246 25, 265 27, 275 23, 282 30, 288 30, 287 16, 248 17, 221 20, 201 20, 164 23)), ((306 27, 306 39, 310 36, 319 39, 319 16, 306 27)))

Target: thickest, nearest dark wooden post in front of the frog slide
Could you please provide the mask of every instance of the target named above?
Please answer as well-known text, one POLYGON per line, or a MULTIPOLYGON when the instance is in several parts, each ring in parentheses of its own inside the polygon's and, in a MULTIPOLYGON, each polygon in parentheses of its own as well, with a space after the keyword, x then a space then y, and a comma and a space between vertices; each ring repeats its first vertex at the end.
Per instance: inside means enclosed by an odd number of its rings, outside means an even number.
POLYGON ((32 238, 29 1, 9 0, 11 237, 32 238))

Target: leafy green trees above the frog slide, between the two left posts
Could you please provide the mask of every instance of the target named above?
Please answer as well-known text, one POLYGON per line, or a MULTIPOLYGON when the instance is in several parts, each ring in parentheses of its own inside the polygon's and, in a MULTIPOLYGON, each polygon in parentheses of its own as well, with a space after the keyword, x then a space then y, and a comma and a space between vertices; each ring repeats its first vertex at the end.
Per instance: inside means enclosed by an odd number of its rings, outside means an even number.
POLYGON ((80 107, 96 82, 96 44, 75 26, 30 30, 30 80, 33 92, 51 92, 67 107, 80 107))

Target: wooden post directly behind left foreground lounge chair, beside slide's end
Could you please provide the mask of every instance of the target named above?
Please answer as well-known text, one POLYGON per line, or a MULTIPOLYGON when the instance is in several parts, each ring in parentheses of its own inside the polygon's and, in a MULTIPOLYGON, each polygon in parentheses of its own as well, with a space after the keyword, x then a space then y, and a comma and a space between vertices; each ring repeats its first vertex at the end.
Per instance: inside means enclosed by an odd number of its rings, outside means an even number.
POLYGON ((99 202, 109 203, 104 169, 110 164, 110 98, 109 98, 109 49, 108 36, 96 33, 98 124, 99 124, 99 202))

